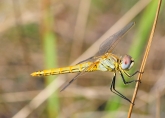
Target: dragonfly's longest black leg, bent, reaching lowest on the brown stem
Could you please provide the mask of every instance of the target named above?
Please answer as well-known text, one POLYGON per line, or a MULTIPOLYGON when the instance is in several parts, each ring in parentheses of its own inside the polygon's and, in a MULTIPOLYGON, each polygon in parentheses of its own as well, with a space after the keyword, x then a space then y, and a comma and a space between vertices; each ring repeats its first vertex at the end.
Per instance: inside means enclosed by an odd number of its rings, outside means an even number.
POLYGON ((115 93, 116 95, 120 96, 121 98, 127 100, 128 102, 130 102, 131 104, 134 104, 131 102, 131 100, 129 100, 127 97, 125 97, 124 95, 122 95, 120 92, 118 92, 116 89, 115 89, 115 82, 116 82, 116 73, 114 73, 114 76, 113 76, 113 79, 112 79, 112 82, 111 82, 111 85, 110 85, 110 90, 115 93), (114 90, 114 91, 113 91, 114 90))

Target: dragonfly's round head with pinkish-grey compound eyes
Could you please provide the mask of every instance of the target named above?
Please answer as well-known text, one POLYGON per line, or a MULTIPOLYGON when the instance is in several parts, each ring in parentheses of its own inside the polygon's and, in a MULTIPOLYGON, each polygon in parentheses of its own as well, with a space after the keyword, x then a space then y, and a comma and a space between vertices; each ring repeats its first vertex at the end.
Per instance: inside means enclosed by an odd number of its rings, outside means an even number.
POLYGON ((134 65, 134 60, 129 55, 124 55, 121 59, 120 66, 123 70, 129 70, 134 65))

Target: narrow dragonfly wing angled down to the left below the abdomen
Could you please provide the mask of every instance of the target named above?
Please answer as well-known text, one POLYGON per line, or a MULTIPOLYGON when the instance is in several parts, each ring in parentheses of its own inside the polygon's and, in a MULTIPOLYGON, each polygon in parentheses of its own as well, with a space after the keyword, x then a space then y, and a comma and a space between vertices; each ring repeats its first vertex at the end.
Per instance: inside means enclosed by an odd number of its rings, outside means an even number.
POLYGON ((91 69, 92 67, 94 67, 96 65, 96 63, 92 63, 91 65, 89 65, 88 67, 86 67, 82 72, 78 73, 73 79, 71 79, 62 89, 61 91, 65 90, 73 81, 75 81, 80 75, 83 75, 85 73, 86 70, 91 69))

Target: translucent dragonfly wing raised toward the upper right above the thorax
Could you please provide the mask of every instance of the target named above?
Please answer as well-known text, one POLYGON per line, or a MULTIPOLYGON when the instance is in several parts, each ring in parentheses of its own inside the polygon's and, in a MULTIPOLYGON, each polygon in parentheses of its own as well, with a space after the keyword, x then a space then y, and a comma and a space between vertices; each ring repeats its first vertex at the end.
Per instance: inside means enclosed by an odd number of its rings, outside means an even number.
POLYGON ((134 22, 129 23, 123 29, 107 38, 99 47, 99 52, 96 55, 103 55, 107 52, 111 52, 119 40, 126 34, 126 32, 134 25, 134 22))

